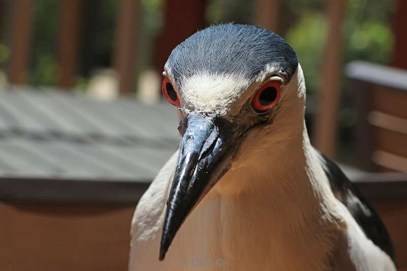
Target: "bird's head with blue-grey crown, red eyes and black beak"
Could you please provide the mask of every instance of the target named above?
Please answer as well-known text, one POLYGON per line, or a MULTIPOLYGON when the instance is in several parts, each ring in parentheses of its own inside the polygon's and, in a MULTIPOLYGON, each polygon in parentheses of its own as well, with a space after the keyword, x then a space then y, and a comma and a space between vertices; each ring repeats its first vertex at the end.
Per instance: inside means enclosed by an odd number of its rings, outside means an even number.
POLYGON ((230 169, 238 149, 273 147, 255 142, 259 131, 273 134, 294 119, 303 122, 305 101, 296 52, 255 26, 223 24, 197 32, 171 52, 163 75, 163 94, 180 110, 182 138, 160 260, 193 208, 230 169))

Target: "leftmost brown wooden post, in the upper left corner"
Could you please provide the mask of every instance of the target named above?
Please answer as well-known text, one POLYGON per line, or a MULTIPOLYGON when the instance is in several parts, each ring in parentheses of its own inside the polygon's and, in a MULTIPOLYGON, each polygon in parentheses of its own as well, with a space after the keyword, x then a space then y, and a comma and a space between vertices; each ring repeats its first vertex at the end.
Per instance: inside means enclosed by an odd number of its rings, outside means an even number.
POLYGON ((13 1, 12 5, 8 77, 12 84, 23 84, 30 61, 34 0, 13 1))

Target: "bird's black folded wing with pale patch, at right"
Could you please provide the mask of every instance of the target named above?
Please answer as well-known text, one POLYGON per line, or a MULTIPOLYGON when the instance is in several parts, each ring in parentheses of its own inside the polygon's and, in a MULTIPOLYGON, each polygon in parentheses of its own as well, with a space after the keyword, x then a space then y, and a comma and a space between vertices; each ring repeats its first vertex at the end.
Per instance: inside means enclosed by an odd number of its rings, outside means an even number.
POLYGON ((379 215, 335 162, 323 154, 321 158, 325 163, 323 168, 335 197, 346 206, 366 236, 394 261, 393 245, 379 215))

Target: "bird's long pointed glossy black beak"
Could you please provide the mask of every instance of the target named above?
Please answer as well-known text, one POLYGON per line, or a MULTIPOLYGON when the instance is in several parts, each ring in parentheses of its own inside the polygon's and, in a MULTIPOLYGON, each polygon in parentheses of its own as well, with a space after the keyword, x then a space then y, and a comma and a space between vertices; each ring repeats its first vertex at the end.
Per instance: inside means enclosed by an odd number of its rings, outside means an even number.
POLYGON ((237 127, 217 115, 190 114, 180 128, 180 154, 167 199, 161 261, 182 223, 224 172, 218 170, 220 162, 237 146, 237 127))

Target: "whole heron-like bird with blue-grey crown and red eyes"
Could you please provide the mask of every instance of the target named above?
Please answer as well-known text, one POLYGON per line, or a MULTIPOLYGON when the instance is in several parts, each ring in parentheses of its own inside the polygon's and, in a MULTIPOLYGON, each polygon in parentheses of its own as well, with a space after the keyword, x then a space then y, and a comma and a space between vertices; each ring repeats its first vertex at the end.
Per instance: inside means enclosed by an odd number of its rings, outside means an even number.
POLYGON ((211 25, 172 50, 163 77, 180 145, 136 206, 130 271, 396 270, 380 217, 310 143, 283 38, 211 25))

